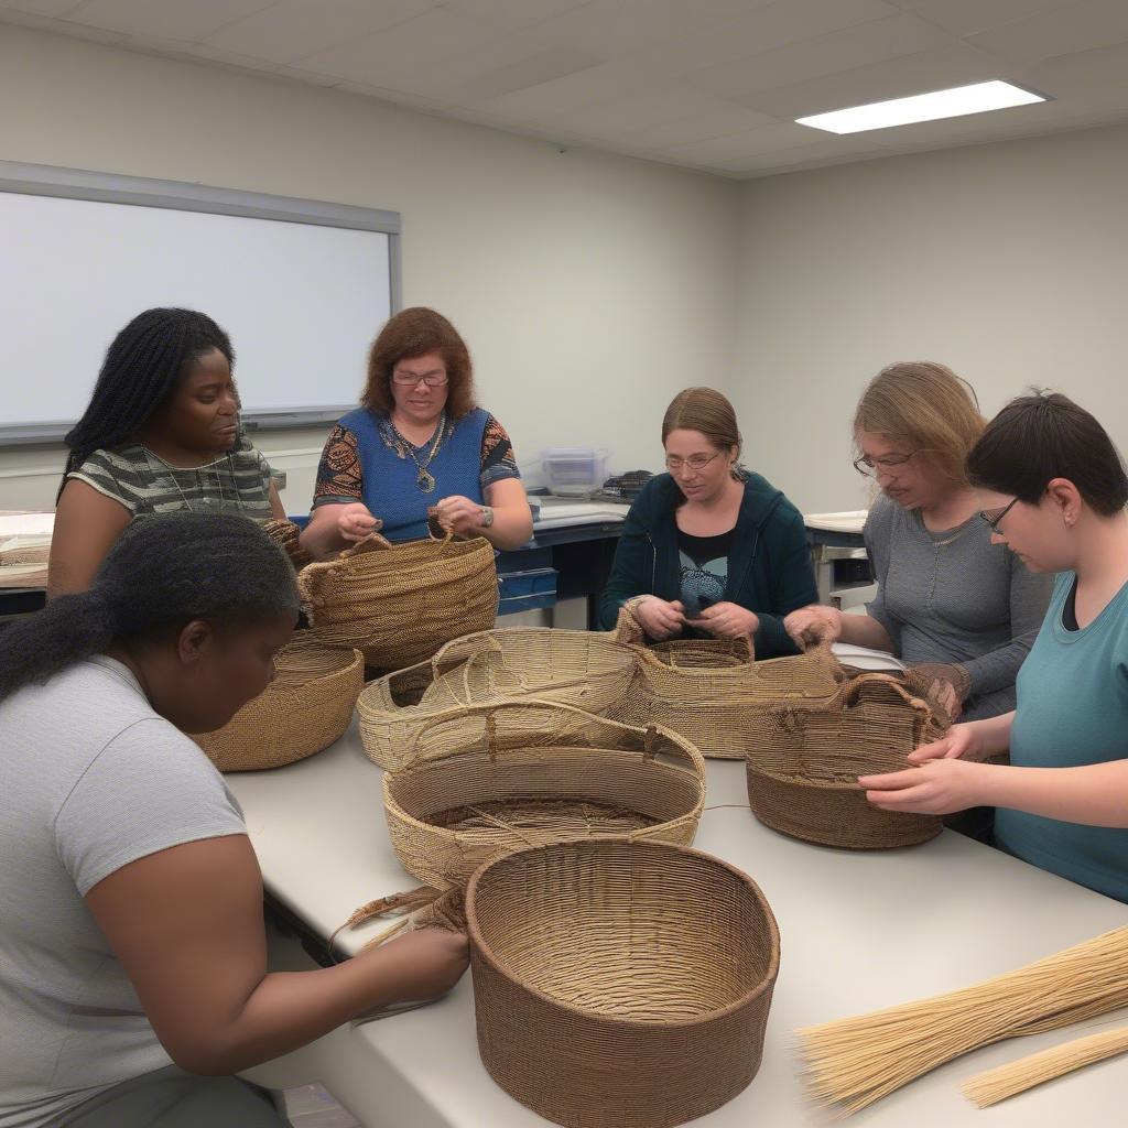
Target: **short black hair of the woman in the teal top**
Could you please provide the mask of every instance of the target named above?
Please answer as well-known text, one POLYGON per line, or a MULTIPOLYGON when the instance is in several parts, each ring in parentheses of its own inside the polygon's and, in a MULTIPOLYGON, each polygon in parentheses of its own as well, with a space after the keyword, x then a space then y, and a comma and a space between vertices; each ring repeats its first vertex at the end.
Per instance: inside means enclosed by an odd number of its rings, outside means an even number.
POLYGON ((1058 391, 1012 399, 968 455, 968 481, 1037 505, 1054 478, 1067 478, 1085 504, 1112 517, 1128 504, 1128 474, 1108 432, 1058 391))

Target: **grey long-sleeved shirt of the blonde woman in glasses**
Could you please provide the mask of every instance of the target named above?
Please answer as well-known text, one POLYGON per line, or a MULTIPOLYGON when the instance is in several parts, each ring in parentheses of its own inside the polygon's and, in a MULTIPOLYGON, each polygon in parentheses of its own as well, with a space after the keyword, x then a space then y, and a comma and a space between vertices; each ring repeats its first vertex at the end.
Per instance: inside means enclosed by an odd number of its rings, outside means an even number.
POLYGON ((1005 545, 993 545, 978 513, 932 532, 918 510, 881 497, 864 536, 878 580, 866 610, 889 633, 895 653, 904 662, 962 666, 971 687, 961 720, 1013 710, 1014 679, 1042 625, 1052 576, 1028 571, 1005 545))

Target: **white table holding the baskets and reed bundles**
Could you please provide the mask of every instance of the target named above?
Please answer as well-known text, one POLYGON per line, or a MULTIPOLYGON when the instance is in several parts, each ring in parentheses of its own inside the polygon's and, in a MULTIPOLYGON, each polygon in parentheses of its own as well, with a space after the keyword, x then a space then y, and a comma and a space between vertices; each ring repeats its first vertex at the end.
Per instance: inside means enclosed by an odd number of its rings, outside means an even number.
MULTIPOLYGON (((702 1128, 803 1128, 827 1117, 804 1096, 797 1026, 966 987, 1128 924, 1128 906, 1051 876, 952 831, 923 846, 853 853, 795 841, 747 807, 743 765, 710 761, 695 846, 749 873, 779 923, 782 958, 764 1063, 702 1128), (722 804, 737 804, 728 807, 722 804)), ((319 756, 232 775, 266 887, 327 937, 367 900, 417 882, 385 826, 380 770, 355 730, 319 756)), ((387 924, 343 934, 355 951, 387 924)), ((1107 1020, 1104 1020, 1107 1021, 1107 1020)), ((1123 1017, 1121 1016, 1121 1021, 1123 1017)), ((1094 1029, 1090 1023, 1085 1032, 1094 1029)), ((858 1128, 1060 1128, 1119 1125, 1128 1060, 1091 1067, 986 1111, 960 1094, 971 1074, 1082 1032, 1003 1042, 951 1063, 853 1119, 858 1128)), ((301 1052, 301 1051, 299 1051, 301 1052)), ((433 1006, 342 1029, 312 1051, 323 1079, 365 1125, 534 1128, 478 1059, 470 977, 433 1006)), ((264 1077, 270 1083, 268 1070, 264 1077)))

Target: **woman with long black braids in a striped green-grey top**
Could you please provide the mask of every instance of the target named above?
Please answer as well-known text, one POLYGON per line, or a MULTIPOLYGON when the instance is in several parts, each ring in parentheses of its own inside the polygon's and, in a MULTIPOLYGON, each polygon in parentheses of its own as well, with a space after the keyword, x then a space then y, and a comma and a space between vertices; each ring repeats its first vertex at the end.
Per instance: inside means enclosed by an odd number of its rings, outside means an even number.
POLYGON ((67 435, 49 598, 88 588, 134 517, 285 517, 266 459, 240 433, 233 363, 227 334, 191 309, 148 309, 117 334, 67 435))

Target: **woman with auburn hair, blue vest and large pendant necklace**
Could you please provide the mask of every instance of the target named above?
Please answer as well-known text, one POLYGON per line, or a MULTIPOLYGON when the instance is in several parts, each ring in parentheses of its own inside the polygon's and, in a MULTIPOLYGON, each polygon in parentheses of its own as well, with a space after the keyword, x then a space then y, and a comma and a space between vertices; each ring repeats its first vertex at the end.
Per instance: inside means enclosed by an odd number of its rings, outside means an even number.
POLYGON ((389 540, 437 523, 517 548, 532 514, 505 429, 474 404, 470 354, 433 309, 396 314, 369 354, 361 406, 333 429, 301 543, 327 556, 376 529, 389 540))

